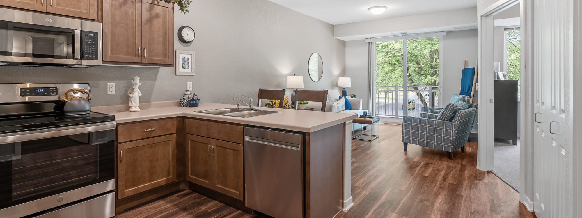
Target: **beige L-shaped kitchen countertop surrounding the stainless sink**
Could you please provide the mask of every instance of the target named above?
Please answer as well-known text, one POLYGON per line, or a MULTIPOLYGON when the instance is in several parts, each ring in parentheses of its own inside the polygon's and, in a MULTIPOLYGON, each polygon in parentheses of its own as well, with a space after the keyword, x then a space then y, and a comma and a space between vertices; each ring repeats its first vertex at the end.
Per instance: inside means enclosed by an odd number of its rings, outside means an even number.
POLYGON ((105 113, 109 115, 115 115, 115 123, 127 123, 133 121, 184 116, 207 120, 225 121, 229 123, 240 123, 254 126, 280 128, 283 130, 302 131, 306 133, 312 133, 314 131, 322 130, 324 128, 335 126, 340 123, 345 123, 357 117, 356 114, 352 113, 331 113, 310 110, 291 110, 264 107, 257 108, 261 110, 280 111, 281 113, 272 113, 270 115, 241 118, 194 112, 198 110, 212 110, 233 107, 235 107, 235 105, 227 105, 222 103, 201 103, 200 106, 196 108, 188 107, 180 108, 178 106, 170 106, 162 108, 141 109, 141 111, 139 112, 123 111, 105 113))

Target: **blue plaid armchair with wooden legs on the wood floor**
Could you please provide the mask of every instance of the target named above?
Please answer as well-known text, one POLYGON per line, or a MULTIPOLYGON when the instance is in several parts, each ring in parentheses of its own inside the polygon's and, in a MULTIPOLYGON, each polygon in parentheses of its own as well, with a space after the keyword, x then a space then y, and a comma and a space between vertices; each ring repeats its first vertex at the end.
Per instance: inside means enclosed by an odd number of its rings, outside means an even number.
POLYGON ((457 112, 453 121, 437 119, 442 108, 422 108, 421 117, 404 116, 402 121, 404 151, 407 151, 410 143, 446 151, 450 159, 453 159, 453 151, 460 148, 464 152, 477 115, 477 104, 467 103, 467 105, 469 108, 457 112))

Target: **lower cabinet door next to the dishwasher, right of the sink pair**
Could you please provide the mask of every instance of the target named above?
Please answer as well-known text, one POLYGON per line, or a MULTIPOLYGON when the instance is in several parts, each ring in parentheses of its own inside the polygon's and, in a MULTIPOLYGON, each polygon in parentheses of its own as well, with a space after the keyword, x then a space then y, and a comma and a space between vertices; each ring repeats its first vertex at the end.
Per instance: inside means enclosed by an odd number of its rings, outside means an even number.
POLYGON ((244 199, 243 145, 212 140, 212 190, 244 199))

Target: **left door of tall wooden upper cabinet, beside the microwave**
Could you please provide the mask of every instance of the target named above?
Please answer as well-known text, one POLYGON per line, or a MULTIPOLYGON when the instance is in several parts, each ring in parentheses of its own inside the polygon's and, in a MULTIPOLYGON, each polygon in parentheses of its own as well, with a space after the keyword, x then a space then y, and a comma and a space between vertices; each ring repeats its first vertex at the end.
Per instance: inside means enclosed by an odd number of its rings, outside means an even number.
POLYGON ((103 0, 103 60, 141 63, 141 0, 103 0))

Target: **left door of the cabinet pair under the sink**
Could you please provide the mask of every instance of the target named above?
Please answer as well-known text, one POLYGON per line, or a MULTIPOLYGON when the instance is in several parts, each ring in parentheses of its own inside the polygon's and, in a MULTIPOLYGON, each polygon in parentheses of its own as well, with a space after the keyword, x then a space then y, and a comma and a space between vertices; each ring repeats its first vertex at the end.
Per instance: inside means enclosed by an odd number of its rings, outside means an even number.
POLYGON ((186 134, 186 180, 212 188, 212 140, 186 134))

